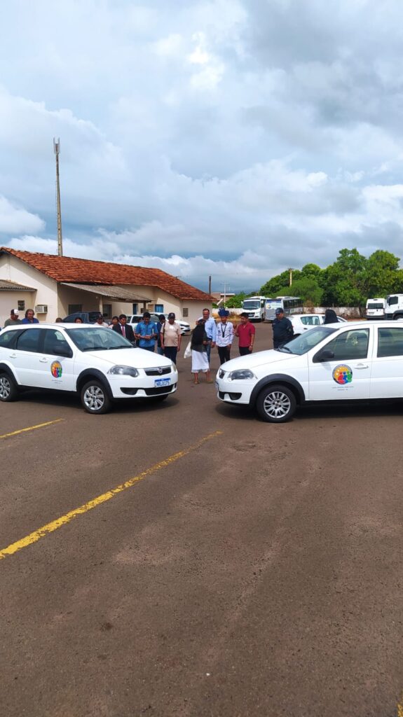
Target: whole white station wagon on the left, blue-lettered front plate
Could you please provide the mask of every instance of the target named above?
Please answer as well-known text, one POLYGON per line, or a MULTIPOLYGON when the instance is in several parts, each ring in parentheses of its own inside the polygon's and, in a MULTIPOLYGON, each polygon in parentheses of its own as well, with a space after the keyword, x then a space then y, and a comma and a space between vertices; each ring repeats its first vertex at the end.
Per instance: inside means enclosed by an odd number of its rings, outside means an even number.
POLYGON ((41 323, 0 333, 3 402, 24 388, 71 391, 88 413, 100 414, 115 399, 166 399, 177 382, 171 359, 133 347, 110 328, 41 323))

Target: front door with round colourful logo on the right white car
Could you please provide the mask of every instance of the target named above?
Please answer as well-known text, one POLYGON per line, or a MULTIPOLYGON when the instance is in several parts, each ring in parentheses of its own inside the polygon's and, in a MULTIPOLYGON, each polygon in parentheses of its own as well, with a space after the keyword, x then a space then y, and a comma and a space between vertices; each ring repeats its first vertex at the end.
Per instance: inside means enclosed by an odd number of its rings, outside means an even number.
MULTIPOLYGON (((371 386, 371 327, 346 328, 309 358, 310 401, 367 399, 371 386), (321 352, 333 354, 321 360, 321 352)), ((331 355, 330 354, 330 355, 331 355)))

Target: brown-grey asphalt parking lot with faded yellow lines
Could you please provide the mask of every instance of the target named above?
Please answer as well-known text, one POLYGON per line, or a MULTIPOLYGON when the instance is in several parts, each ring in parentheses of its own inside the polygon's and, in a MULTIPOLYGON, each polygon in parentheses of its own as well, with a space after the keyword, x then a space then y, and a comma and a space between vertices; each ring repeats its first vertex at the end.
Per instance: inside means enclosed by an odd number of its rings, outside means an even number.
POLYGON ((402 717, 403 405, 271 425, 189 371, 1 404, 1 715, 402 717))

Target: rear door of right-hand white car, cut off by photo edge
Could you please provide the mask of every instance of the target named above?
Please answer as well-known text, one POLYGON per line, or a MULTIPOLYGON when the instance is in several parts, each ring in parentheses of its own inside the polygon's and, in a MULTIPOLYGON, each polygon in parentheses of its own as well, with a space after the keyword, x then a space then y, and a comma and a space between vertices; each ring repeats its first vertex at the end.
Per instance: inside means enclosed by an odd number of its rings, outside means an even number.
POLYGON ((376 329, 371 398, 403 397, 403 326, 376 329))

